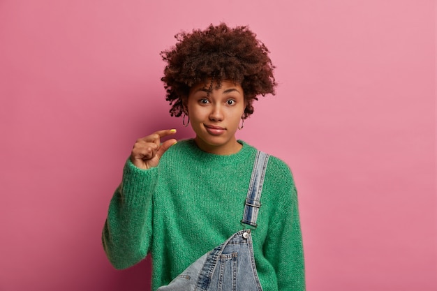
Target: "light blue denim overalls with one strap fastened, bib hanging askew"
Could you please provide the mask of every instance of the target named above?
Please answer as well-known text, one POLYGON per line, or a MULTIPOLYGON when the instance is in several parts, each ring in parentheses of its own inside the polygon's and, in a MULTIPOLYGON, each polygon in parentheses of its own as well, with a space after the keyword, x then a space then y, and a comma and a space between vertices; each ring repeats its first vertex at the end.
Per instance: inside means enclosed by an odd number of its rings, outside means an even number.
MULTIPOLYGON (((256 227, 269 155, 258 151, 253 165, 242 224, 256 227)), ((158 291, 262 291, 253 258, 251 230, 240 230, 205 253, 158 291)))

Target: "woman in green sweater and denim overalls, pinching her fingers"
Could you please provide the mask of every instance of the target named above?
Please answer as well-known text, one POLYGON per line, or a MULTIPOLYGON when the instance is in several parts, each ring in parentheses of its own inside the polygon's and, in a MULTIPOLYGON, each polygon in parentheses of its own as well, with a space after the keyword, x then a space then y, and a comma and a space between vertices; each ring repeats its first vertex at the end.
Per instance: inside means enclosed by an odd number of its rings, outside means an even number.
POLYGON ((103 229, 110 262, 151 253, 152 290, 304 290, 292 174, 235 138, 257 96, 274 94, 267 47, 225 24, 176 38, 162 80, 170 114, 195 137, 161 143, 169 129, 135 142, 103 229))

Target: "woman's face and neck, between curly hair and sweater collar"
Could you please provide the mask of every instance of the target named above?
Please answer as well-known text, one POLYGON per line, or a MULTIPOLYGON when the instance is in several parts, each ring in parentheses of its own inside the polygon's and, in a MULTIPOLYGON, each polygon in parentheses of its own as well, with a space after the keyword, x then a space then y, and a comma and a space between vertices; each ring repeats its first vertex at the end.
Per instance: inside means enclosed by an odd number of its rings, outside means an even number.
POLYGON ((244 92, 239 84, 221 82, 191 87, 186 110, 196 137, 195 142, 203 151, 212 154, 235 154, 242 145, 235 132, 244 114, 244 92))

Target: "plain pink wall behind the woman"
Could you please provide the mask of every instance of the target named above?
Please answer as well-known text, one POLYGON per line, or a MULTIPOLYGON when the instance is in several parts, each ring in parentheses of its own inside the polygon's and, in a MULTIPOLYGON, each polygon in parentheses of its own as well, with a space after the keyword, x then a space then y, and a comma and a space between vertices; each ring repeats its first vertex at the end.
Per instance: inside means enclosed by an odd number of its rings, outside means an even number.
POLYGON ((159 52, 249 24, 276 96, 238 137, 295 174, 307 290, 436 284, 436 3, 0 1, 0 290, 148 290, 101 228, 136 138, 177 128, 159 52))

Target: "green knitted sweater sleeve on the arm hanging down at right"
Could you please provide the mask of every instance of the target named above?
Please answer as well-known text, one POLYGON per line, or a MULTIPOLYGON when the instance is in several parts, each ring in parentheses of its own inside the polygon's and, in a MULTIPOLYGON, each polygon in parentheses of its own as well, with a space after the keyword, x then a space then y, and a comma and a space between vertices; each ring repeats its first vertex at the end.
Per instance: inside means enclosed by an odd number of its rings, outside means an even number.
POLYGON ((291 174, 289 177, 290 183, 285 182, 281 187, 278 211, 272 217, 265 255, 276 271, 278 290, 304 291, 304 250, 297 192, 291 174))

